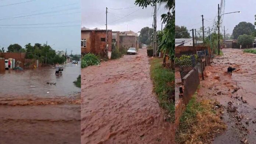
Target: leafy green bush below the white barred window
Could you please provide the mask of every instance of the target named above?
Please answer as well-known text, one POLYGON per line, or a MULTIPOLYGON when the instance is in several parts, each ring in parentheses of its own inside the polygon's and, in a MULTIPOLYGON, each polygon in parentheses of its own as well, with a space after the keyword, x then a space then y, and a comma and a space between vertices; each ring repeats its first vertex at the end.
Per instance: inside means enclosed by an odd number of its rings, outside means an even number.
POLYGON ((82 58, 81 67, 86 68, 87 66, 90 66, 90 65, 99 65, 99 64, 100 64, 99 58, 97 58, 96 55, 89 53, 82 58))

